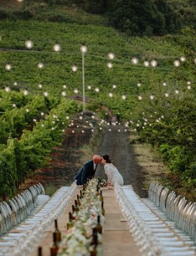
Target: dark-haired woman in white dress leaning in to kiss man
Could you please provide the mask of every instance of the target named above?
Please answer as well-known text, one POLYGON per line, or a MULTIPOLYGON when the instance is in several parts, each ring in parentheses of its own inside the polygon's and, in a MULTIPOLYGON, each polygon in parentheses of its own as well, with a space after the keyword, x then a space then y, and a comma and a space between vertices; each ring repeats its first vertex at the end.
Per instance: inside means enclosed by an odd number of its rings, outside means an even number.
POLYGON ((114 164, 111 163, 109 155, 102 155, 101 164, 104 164, 105 174, 107 175, 107 185, 113 186, 115 182, 119 185, 123 185, 123 177, 114 164))

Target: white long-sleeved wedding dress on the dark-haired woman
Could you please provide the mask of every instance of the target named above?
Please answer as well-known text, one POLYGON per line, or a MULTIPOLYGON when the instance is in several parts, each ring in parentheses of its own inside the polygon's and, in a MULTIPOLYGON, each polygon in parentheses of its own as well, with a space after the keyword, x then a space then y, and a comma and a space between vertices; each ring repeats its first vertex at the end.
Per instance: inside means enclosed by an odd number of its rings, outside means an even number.
POLYGON ((104 166, 105 174, 107 175, 107 181, 114 185, 115 181, 123 186, 123 177, 119 173, 118 169, 114 166, 114 164, 106 163, 104 166))

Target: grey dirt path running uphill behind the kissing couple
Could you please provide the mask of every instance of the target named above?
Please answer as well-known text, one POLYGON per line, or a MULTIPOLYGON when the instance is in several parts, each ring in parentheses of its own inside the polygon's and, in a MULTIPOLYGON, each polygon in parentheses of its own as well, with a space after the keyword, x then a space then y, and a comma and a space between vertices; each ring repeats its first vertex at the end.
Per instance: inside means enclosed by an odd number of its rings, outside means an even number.
MULTIPOLYGON (((124 131, 124 126, 112 126, 111 131, 106 130, 99 154, 110 155, 112 163, 123 176, 124 184, 131 184, 140 197, 147 197, 147 192, 142 189, 144 171, 136 162, 136 154, 129 143, 129 133, 124 131)), ((103 167, 100 167, 97 175, 106 178, 103 172, 103 167)))

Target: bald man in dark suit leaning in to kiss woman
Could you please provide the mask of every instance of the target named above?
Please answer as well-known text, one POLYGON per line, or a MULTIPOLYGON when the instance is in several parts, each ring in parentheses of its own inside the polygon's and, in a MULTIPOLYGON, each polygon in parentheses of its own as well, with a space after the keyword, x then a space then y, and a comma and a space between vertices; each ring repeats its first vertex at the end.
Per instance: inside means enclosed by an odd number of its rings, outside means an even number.
POLYGON ((100 162, 101 156, 94 155, 93 160, 85 163, 84 166, 82 166, 81 170, 74 175, 73 180, 77 180, 77 185, 83 185, 86 183, 87 179, 92 179, 97 169, 97 165, 100 162))

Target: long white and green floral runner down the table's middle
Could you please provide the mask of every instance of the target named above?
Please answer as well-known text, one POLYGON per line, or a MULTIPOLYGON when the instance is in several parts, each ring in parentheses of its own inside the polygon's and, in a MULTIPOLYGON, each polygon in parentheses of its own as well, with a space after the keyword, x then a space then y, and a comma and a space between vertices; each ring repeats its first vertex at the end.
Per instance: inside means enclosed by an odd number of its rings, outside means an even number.
POLYGON ((89 256, 101 255, 101 234, 97 233, 97 245, 93 244, 93 230, 98 225, 102 226, 102 201, 99 196, 98 179, 91 179, 82 192, 81 199, 69 221, 69 228, 61 242, 62 256, 89 256), (98 217, 99 216, 99 217, 98 217), (95 248, 96 247, 96 248, 95 248), (96 251, 95 254, 92 251, 96 251))

